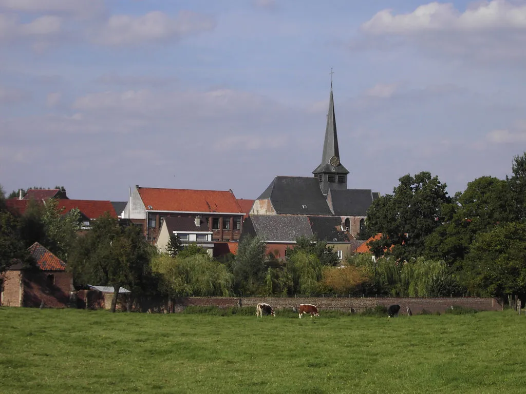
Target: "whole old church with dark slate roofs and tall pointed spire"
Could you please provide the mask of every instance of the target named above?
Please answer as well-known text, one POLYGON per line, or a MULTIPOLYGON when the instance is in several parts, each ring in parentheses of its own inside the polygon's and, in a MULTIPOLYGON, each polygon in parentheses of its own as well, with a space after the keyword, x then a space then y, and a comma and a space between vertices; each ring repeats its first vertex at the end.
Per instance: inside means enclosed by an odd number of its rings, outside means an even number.
MULTIPOLYGON (((313 177, 274 178, 252 205, 249 222, 253 223, 248 223, 254 227, 251 233, 268 240, 271 237, 270 230, 258 231, 255 224, 258 221, 268 223, 269 215, 306 216, 312 233, 318 239, 331 237, 327 241, 342 240, 341 233, 345 233, 347 240, 352 241, 363 229, 367 210, 380 195, 370 189, 347 187, 349 171, 342 164, 338 148, 332 81, 321 163, 312 174, 313 177), (266 216, 266 219, 261 216, 266 216), (325 236, 315 229, 315 223, 324 222, 322 217, 327 217, 325 229, 333 227, 335 230, 325 236)), ((274 222, 274 225, 278 225, 278 221, 274 222)))

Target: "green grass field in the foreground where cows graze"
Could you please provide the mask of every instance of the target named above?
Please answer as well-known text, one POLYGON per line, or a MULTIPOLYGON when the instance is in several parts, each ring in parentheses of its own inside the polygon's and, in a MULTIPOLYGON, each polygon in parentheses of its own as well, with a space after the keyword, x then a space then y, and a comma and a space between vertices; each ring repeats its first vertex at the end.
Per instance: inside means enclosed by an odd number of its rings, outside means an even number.
POLYGON ((526 318, 0 308, 0 393, 523 393, 526 318))

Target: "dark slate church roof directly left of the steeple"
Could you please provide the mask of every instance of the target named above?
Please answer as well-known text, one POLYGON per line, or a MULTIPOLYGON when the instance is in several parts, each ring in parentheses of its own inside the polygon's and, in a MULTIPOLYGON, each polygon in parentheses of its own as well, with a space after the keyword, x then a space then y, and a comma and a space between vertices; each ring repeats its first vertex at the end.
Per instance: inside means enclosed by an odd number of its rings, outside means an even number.
POLYGON ((258 200, 270 199, 277 214, 332 215, 314 177, 276 177, 258 200))

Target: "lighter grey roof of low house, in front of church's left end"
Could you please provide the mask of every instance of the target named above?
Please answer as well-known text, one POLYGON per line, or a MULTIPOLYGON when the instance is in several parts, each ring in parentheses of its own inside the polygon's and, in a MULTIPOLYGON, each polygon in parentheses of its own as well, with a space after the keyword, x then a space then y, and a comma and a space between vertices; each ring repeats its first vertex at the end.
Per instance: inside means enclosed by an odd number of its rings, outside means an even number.
POLYGON ((305 215, 250 215, 245 221, 247 232, 265 241, 296 242, 300 236, 312 237, 309 219, 305 215))

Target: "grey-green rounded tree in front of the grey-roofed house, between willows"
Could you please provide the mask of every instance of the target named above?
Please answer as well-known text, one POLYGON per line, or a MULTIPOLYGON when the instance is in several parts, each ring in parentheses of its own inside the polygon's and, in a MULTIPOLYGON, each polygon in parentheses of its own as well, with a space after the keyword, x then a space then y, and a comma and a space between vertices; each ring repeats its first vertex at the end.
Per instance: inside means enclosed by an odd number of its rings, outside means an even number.
POLYGON ((245 236, 240 242, 232 265, 236 292, 257 294, 267 271, 266 245, 260 237, 245 236))

